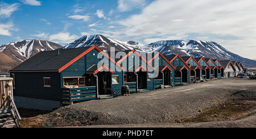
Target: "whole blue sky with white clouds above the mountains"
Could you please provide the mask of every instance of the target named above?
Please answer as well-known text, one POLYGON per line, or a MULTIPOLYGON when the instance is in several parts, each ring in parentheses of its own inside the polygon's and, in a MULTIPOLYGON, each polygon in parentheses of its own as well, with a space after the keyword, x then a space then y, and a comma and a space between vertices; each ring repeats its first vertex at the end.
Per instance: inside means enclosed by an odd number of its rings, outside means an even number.
POLYGON ((24 39, 66 44, 100 33, 142 44, 216 41, 255 59, 255 7, 251 0, 1 0, 0 45, 24 39))

